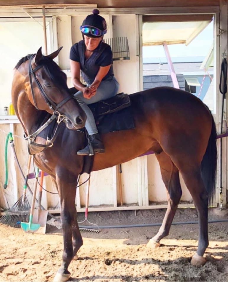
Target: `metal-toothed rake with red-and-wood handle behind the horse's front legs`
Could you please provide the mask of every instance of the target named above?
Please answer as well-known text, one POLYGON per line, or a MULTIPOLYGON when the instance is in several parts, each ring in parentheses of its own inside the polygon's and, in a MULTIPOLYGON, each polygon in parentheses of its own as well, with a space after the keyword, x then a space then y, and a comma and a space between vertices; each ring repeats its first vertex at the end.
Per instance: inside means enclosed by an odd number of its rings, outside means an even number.
POLYGON ((95 223, 92 223, 88 220, 88 206, 89 206, 89 186, 90 186, 90 179, 87 182, 86 186, 86 197, 85 197, 85 219, 83 221, 79 221, 79 230, 84 232, 94 232, 99 233, 100 228, 95 223), (83 225, 81 225, 83 224, 83 225))

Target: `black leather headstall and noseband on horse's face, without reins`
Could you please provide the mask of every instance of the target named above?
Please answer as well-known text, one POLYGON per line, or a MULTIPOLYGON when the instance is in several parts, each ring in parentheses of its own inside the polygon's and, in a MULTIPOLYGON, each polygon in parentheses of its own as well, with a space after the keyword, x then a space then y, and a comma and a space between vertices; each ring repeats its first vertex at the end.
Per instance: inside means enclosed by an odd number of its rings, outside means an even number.
MULTIPOLYGON (((32 97, 33 97, 33 103, 34 103, 34 106, 35 108, 38 108, 37 106, 37 103, 35 101, 35 94, 34 94, 34 89, 33 89, 33 84, 32 84, 32 75, 33 75, 33 78, 35 79, 35 82, 41 92, 41 95, 43 97, 43 99, 45 100, 45 102, 48 104, 49 108, 53 110, 53 112, 56 112, 59 108, 62 107, 62 105, 64 105, 66 102, 68 102, 69 100, 73 99, 73 96, 72 95, 69 95, 67 98, 63 99, 59 104, 56 104, 53 100, 51 100, 48 95, 45 93, 45 91, 43 90, 43 87, 41 86, 40 82, 38 81, 38 79, 36 78, 35 76, 35 72, 42 68, 42 65, 38 65, 36 66, 34 69, 32 68, 32 59, 35 55, 33 55, 31 58, 30 58, 30 61, 29 61, 29 81, 30 81, 30 86, 31 86, 31 91, 32 91, 32 97)), ((58 112, 57 112, 58 113, 58 112)), ((59 115, 59 113, 58 113, 59 115)))

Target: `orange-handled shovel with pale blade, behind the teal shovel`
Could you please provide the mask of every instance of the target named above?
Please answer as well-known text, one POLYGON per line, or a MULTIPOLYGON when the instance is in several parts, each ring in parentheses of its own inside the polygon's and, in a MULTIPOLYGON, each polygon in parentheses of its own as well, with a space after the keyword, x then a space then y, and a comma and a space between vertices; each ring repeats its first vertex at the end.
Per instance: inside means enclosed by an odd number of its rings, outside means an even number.
POLYGON ((33 222, 38 223, 40 225, 39 230, 36 233, 45 234, 46 233, 46 224, 47 224, 47 217, 48 211, 41 210, 41 198, 42 198, 42 186, 43 186, 43 177, 44 172, 41 171, 41 178, 40 178, 40 188, 39 188, 39 196, 38 196, 38 209, 34 210, 33 213, 33 222))

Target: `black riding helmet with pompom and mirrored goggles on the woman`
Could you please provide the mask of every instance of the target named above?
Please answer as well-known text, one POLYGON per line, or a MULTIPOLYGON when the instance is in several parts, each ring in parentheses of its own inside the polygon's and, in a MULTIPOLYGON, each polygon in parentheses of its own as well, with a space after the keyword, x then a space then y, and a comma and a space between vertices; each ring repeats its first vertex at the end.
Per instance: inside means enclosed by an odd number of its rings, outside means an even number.
POLYGON ((101 37, 107 33, 106 20, 99 15, 99 10, 94 9, 93 14, 88 15, 80 26, 80 31, 88 37, 101 37))

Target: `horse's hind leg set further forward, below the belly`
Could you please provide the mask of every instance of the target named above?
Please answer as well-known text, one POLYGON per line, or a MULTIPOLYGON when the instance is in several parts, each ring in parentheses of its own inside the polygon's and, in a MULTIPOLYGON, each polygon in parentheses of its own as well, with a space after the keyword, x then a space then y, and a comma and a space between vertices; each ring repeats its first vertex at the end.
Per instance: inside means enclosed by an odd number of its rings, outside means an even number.
POLYGON ((177 167, 164 152, 157 154, 156 157, 159 161, 162 180, 166 186, 168 207, 158 233, 147 244, 149 247, 159 246, 159 241, 169 234, 169 229, 182 195, 177 167))

